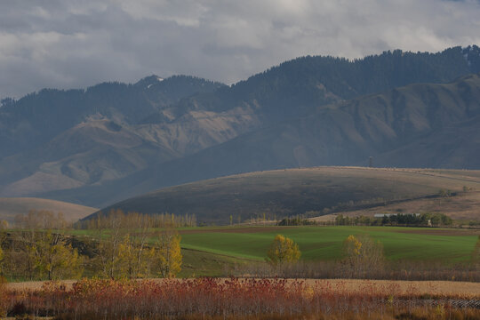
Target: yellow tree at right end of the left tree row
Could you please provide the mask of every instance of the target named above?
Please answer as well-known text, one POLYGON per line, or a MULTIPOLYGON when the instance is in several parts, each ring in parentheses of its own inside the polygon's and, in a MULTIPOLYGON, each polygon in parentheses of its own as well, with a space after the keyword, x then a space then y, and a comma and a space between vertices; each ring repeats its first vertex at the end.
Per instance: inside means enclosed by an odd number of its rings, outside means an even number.
POLYGON ((175 277, 181 270, 180 235, 172 228, 164 229, 156 242, 156 257, 159 265, 159 275, 175 277))

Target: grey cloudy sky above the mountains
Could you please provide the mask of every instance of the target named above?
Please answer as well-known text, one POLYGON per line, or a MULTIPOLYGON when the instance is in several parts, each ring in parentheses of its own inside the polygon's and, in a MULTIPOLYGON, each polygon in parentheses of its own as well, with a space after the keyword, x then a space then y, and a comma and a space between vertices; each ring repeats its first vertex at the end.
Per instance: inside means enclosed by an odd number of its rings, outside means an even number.
POLYGON ((480 0, 0 0, 0 98, 480 44, 480 0))

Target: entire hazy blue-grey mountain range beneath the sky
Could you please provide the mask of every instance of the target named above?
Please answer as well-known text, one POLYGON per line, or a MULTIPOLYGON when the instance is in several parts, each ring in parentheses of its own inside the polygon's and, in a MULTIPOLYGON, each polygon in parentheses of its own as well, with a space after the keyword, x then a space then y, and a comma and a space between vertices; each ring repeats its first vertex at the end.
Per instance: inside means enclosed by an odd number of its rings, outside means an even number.
POLYGON ((308 56, 237 84, 148 76, 0 107, 0 196, 103 207, 317 165, 480 169, 480 48, 308 56))

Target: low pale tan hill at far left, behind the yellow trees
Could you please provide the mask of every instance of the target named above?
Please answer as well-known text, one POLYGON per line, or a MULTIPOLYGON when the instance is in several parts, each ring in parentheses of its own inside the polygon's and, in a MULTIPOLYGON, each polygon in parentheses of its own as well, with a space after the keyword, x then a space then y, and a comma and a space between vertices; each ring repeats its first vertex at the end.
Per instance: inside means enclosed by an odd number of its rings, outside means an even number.
POLYGON ((0 198, 0 220, 13 224, 17 214, 26 214, 30 210, 62 212, 65 219, 72 222, 97 211, 95 208, 49 199, 0 198))

